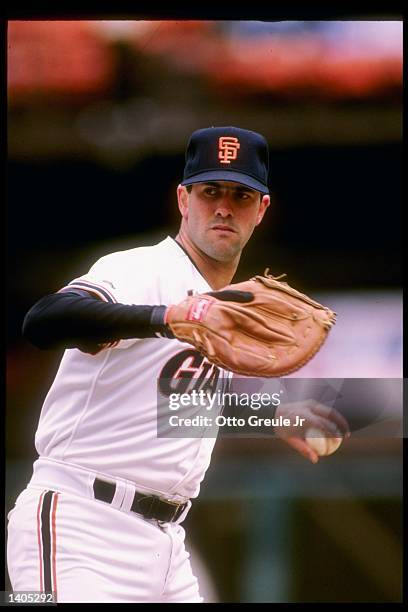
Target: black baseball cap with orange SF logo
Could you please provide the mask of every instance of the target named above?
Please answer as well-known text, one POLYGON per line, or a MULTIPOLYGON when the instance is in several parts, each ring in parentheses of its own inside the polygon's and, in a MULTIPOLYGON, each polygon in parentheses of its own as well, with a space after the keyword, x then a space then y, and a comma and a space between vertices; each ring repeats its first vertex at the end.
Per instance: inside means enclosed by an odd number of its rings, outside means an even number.
POLYGON ((232 181, 266 194, 268 170, 268 143, 261 134, 232 126, 203 128, 190 136, 181 184, 232 181))

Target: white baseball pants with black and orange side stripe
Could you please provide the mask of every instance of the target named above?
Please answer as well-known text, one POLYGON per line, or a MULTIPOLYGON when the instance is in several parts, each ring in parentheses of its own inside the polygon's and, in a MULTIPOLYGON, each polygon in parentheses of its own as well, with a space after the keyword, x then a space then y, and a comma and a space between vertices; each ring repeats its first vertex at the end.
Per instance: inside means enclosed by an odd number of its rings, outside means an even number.
POLYGON ((66 484, 39 486, 33 477, 8 514, 14 591, 52 591, 63 603, 202 601, 180 524, 146 520, 66 484))

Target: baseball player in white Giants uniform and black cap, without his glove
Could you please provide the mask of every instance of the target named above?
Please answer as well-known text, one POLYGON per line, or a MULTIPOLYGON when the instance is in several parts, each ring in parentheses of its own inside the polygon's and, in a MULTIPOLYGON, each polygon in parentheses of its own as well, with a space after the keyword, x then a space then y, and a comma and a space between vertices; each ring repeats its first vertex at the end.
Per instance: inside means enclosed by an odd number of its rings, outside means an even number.
MULTIPOLYGON (((267 180, 263 136, 197 130, 177 188, 177 236, 102 257, 27 313, 25 337, 65 352, 33 475, 8 515, 14 591, 58 602, 202 601, 181 523, 215 438, 159 437, 157 390, 215 390, 231 373, 174 337, 166 317, 186 296, 231 282, 270 204, 267 180)), ((304 441, 293 446, 317 461, 304 441)))

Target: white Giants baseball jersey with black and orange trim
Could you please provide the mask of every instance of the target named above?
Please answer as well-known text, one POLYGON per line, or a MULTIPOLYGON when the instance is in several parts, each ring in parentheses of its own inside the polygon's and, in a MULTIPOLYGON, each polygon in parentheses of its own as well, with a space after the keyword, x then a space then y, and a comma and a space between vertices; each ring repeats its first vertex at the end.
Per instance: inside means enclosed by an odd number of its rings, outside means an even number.
MULTIPOLYGON (((169 305, 211 287, 183 248, 157 245, 112 253, 62 290, 86 289, 107 302, 169 305)), ((125 339, 96 355, 67 349, 42 407, 40 457, 131 480, 168 496, 196 497, 214 437, 157 437, 157 384, 183 385, 220 374, 191 345, 168 338, 125 339)), ((174 386, 173 386, 174 390, 174 386)))

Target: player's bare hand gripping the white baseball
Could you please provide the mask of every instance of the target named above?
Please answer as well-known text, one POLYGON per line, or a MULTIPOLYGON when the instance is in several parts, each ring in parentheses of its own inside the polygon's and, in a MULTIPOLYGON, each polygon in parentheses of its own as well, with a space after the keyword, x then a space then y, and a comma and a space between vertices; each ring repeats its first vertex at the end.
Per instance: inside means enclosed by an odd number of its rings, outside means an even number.
POLYGON ((304 439, 310 427, 324 431, 327 436, 338 435, 339 432, 344 438, 350 436, 348 423, 342 414, 335 408, 316 400, 280 404, 276 409, 275 418, 280 416, 290 419, 291 426, 275 427, 277 436, 312 463, 318 462, 319 455, 304 439), (294 423, 299 419, 304 419, 302 425, 295 426, 294 423))

